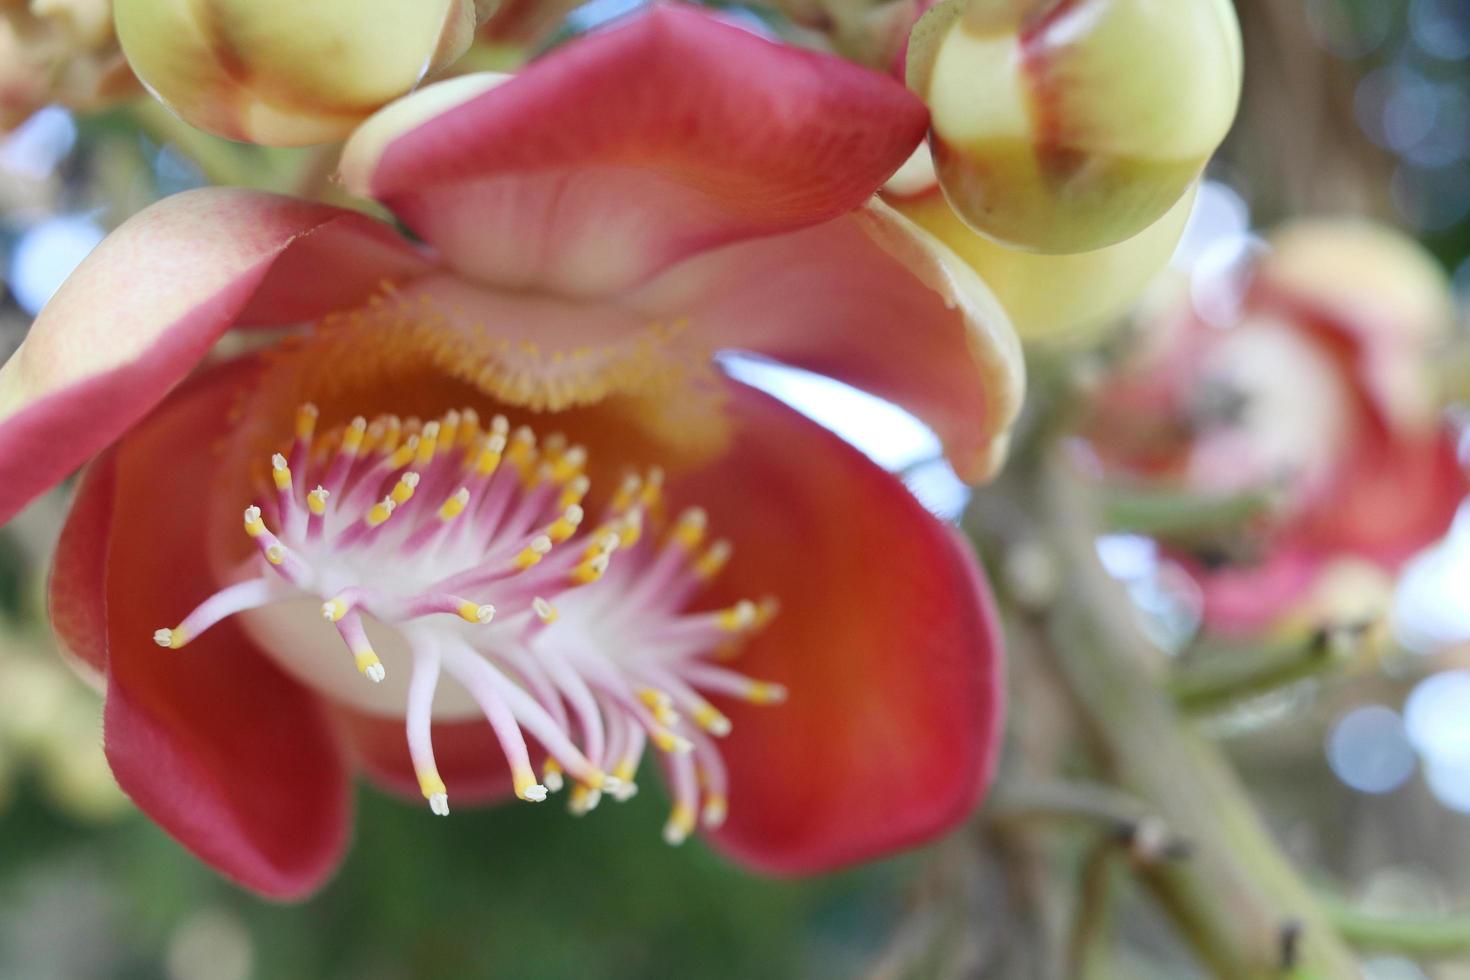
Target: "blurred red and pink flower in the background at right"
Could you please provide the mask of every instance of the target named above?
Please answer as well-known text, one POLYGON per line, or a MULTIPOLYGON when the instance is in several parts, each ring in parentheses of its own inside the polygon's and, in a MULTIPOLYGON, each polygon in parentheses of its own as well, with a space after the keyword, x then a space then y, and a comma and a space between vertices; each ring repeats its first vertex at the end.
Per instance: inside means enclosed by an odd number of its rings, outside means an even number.
POLYGON ((1216 322, 1189 295, 1163 303, 1145 350, 1098 394, 1092 445, 1114 476, 1270 500, 1244 535, 1175 552, 1207 627, 1380 611, 1466 494, 1430 373, 1454 319, 1446 279, 1392 229, 1302 220, 1241 288, 1223 322, 1217 303, 1202 307, 1216 322))

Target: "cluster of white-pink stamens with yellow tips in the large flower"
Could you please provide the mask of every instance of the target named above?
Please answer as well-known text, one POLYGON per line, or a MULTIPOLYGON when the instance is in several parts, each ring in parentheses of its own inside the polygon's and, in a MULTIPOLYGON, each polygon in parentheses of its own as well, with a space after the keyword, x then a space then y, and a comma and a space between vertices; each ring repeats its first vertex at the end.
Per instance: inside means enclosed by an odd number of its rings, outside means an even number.
POLYGON ((368 680, 387 670, 365 621, 407 642, 407 746, 434 813, 448 814, 432 739, 447 674, 494 730, 520 799, 567 785, 576 814, 603 795, 628 799, 651 743, 673 795, 664 837, 725 820, 716 739, 731 721, 709 698, 776 704, 785 689, 720 663, 770 620, 772 599, 686 611, 731 557, 725 541, 706 545, 703 510, 664 522, 651 470, 628 476, 588 522, 587 451, 557 433, 538 444, 503 416, 484 426, 473 410, 357 417, 328 432, 318 422, 313 406, 300 408, 295 439, 244 510, 256 554, 240 580, 157 630, 157 645, 178 649, 228 616, 316 597, 368 680), (539 779, 526 735, 547 752, 539 779))

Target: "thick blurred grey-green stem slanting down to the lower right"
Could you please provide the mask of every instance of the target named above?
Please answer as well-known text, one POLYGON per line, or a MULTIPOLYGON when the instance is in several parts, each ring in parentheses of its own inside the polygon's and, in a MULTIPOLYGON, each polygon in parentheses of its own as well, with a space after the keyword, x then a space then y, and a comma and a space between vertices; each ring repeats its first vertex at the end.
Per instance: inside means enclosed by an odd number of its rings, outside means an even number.
POLYGON ((1119 785, 1189 839, 1186 861, 1155 862, 1139 877, 1220 976, 1247 980, 1351 977, 1351 951, 1263 826, 1217 746, 1182 720, 1160 691, 1157 651, 1139 633, 1126 595, 1098 564, 1097 526, 1079 478, 1060 457, 1032 475, 1067 597, 1039 624, 1092 723, 1119 785), (1295 934, 1295 942, 1283 942, 1295 934), (1289 946, 1291 956, 1283 956, 1289 946), (1291 962, 1283 962, 1291 959, 1291 962))

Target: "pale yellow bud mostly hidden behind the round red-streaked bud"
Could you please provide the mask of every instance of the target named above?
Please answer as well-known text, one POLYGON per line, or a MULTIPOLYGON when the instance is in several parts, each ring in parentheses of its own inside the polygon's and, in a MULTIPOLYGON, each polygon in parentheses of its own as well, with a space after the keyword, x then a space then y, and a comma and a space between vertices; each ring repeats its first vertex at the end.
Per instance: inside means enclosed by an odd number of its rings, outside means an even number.
POLYGON ((1045 256, 997 245, 960 220, 933 191, 891 204, 980 273, 1026 344, 1085 344, 1123 322, 1158 275, 1189 222, 1194 188, 1157 222, 1107 248, 1045 256))

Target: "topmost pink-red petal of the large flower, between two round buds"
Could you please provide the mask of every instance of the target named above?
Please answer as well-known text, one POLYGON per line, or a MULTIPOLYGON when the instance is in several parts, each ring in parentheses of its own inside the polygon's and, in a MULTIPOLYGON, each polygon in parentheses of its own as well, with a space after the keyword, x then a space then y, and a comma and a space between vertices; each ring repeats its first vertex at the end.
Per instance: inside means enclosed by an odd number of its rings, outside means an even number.
POLYGON ((466 275, 607 294, 713 245, 861 204, 928 112, 894 79, 654 6, 520 75, 431 85, 369 119, 350 190, 466 275))

